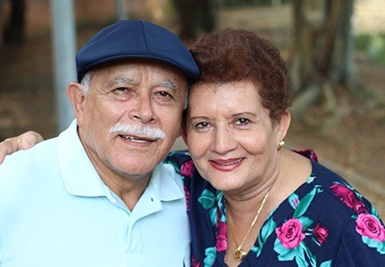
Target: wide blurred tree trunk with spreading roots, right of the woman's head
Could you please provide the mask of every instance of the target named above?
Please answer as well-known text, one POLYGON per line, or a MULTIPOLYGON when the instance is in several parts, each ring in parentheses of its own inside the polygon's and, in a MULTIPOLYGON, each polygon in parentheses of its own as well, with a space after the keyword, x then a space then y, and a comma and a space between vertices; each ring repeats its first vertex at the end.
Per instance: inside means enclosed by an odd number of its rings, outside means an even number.
POLYGON ((320 99, 333 109, 338 88, 365 93, 353 61, 353 7, 354 0, 293 0, 294 36, 288 67, 296 95, 294 111, 320 99))

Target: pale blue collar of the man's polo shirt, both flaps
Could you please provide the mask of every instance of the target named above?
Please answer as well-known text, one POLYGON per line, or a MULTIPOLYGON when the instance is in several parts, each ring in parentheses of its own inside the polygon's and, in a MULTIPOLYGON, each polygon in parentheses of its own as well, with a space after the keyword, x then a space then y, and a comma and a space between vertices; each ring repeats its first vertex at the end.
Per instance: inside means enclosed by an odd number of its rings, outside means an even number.
MULTIPOLYGON (((112 191, 102 182, 80 142, 76 119, 59 135, 58 147, 61 177, 71 195, 111 196, 112 191)), ((154 168, 147 190, 151 190, 152 195, 160 201, 184 198, 181 178, 173 167, 168 165, 160 164, 154 168)))

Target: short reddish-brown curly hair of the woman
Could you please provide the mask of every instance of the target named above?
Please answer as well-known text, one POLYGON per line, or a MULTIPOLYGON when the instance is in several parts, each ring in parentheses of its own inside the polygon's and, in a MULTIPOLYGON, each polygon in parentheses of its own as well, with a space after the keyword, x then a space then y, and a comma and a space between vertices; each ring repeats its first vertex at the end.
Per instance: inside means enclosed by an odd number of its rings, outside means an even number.
POLYGON ((250 80, 261 103, 277 122, 291 104, 286 64, 273 44, 245 29, 220 29, 191 48, 201 69, 198 83, 250 80))

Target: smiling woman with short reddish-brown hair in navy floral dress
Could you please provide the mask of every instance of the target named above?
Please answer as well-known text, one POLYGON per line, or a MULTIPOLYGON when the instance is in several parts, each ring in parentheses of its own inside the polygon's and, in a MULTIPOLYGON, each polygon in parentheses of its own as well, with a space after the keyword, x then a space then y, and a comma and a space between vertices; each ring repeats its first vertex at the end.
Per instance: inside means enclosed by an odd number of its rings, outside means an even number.
POLYGON ((291 95, 278 50, 224 29, 191 51, 201 78, 184 112, 189 152, 166 161, 184 178, 192 265, 385 266, 373 205, 312 151, 284 148, 291 95))

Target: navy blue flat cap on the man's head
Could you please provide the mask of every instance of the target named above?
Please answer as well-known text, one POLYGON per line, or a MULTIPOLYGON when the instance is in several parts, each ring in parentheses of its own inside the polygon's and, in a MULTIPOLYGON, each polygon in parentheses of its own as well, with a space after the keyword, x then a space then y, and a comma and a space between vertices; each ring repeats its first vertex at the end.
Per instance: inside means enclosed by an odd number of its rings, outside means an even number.
POLYGON ((189 84, 200 70, 174 33, 143 20, 120 20, 93 36, 77 53, 78 82, 96 66, 122 59, 150 59, 181 69, 189 84))

